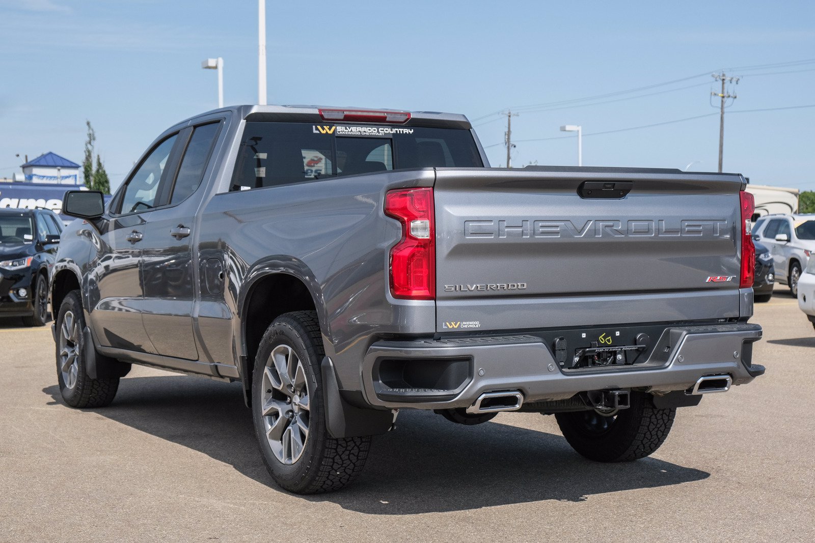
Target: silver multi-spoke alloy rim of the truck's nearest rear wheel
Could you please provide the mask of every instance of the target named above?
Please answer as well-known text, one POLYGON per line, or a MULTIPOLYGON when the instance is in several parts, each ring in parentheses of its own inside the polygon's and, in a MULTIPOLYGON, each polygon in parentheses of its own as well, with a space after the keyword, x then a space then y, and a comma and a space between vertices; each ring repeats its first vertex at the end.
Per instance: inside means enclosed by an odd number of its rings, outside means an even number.
POLYGON ((297 462, 308 440, 310 396, 306 370, 289 345, 271 350, 260 409, 271 452, 284 464, 297 462))

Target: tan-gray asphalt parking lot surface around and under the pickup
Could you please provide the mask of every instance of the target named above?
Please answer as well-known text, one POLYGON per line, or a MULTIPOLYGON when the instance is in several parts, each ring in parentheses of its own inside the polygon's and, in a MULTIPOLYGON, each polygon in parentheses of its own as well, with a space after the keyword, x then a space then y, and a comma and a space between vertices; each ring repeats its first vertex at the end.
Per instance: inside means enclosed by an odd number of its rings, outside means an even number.
POLYGON ((652 458, 579 457, 553 417, 400 414, 340 493, 269 480, 240 385, 134 366, 66 407, 50 327, 0 320, 0 541, 815 541, 815 331, 756 305, 764 378, 680 409, 652 458))

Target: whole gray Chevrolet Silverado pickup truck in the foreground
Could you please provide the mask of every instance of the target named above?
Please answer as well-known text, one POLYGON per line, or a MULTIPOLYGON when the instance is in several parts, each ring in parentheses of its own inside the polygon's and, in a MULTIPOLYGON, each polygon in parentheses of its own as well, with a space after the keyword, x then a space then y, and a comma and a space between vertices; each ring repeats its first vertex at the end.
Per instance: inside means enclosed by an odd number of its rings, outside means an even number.
POLYGON ((59 388, 131 364, 240 381, 271 477, 341 488, 399 409, 554 414, 587 458, 653 453, 752 364, 740 175, 491 169, 465 116, 227 107, 166 130, 107 206, 69 192, 59 388))

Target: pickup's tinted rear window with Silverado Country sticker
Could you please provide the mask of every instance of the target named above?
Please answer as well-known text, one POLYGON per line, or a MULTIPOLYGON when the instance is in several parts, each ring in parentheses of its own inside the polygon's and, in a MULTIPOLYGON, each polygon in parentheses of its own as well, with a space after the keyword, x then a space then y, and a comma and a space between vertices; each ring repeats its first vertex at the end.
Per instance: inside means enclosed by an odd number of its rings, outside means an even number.
POLYGON ((468 129, 246 123, 231 190, 407 168, 481 168, 468 129))

